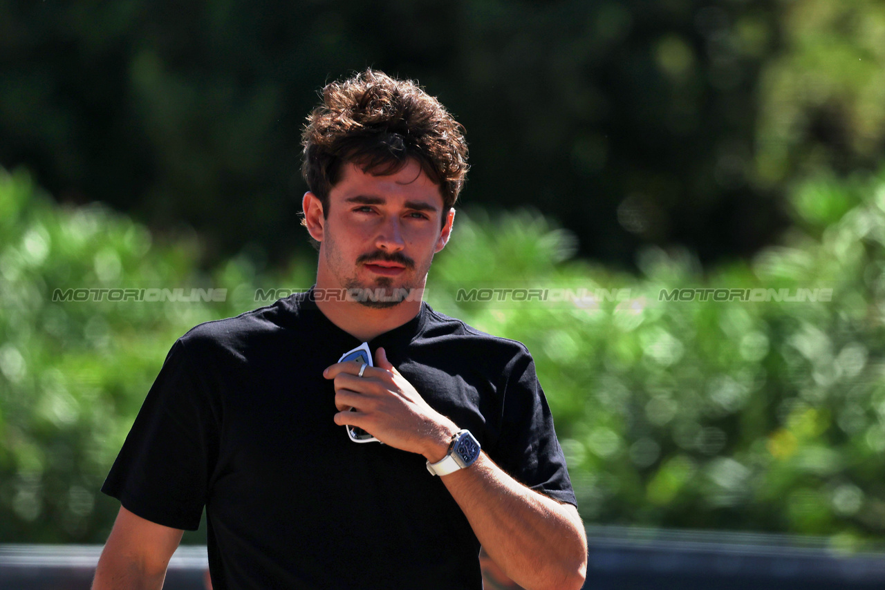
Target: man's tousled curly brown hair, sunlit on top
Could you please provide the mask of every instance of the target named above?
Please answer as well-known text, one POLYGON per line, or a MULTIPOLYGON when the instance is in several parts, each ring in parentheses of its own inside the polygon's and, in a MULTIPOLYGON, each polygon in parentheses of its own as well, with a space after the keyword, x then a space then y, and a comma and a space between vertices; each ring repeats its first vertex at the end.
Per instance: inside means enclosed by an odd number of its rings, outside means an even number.
MULTIPOLYGON (((395 174, 410 158, 440 186, 443 213, 458 200, 467 173, 464 127, 443 104, 412 80, 396 80, 367 69, 322 91, 323 103, 307 117, 304 180, 328 215, 328 195, 342 165, 395 174)), ((443 215, 443 221, 445 215, 443 215)))

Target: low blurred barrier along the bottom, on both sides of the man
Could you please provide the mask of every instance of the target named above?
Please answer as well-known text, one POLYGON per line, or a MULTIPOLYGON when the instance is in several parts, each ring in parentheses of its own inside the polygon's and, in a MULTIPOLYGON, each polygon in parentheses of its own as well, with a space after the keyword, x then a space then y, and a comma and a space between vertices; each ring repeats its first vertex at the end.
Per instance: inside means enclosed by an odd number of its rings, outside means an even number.
MULTIPOLYGON (((826 540, 590 526, 588 590, 881 590, 885 553, 826 540)), ((0 545, 0 589, 88 590, 101 548, 0 545)), ((165 590, 204 590, 204 547, 180 547, 165 590)))

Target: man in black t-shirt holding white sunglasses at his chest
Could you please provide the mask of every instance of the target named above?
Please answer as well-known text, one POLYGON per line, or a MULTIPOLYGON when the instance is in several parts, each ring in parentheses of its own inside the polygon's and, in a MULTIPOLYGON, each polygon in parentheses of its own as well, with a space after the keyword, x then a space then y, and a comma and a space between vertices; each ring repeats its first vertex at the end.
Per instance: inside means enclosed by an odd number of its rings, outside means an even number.
POLYGON ((316 285, 175 343, 105 481, 122 506, 93 587, 162 586, 204 506, 217 590, 480 588, 480 547, 526 588, 581 587, 531 356, 419 296, 466 174, 458 123, 371 70, 323 99, 304 132, 316 285), (373 366, 337 362, 361 342, 373 366))

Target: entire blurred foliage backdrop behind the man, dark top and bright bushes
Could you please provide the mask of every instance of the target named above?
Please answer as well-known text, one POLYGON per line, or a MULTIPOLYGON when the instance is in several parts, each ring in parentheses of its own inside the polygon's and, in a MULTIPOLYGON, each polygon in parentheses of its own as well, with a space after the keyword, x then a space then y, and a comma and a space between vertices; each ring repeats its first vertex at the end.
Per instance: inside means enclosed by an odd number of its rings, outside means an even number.
POLYGON ((104 542, 174 339, 312 284, 297 135, 366 65, 466 124, 486 208, 428 298, 533 351, 589 523, 883 540, 885 4, 367 6, 0 0, 0 541, 104 542), (227 298, 52 301, 73 287, 227 298), (832 300, 660 300, 684 287, 832 300))

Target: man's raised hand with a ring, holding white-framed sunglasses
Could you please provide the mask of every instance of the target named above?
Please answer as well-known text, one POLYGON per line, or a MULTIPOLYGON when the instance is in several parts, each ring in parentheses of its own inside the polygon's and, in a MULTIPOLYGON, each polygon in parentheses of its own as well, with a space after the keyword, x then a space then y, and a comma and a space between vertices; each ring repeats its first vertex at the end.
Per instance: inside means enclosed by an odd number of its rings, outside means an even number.
POLYGON ((323 372, 335 380, 335 424, 353 425, 394 448, 441 461, 458 426, 431 408, 390 364, 384 349, 359 377, 359 363, 335 363, 323 372), (353 408, 355 411, 350 411, 353 408))

